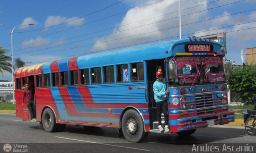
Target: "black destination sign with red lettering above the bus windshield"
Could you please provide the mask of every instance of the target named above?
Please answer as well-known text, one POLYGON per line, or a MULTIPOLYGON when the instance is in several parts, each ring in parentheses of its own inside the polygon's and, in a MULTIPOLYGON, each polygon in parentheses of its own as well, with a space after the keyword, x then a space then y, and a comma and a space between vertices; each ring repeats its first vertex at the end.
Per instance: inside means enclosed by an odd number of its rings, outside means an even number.
POLYGON ((185 45, 185 51, 188 53, 191 52, 213 52, 213 46, 212 45, 191 45, 186 44, 185 45))

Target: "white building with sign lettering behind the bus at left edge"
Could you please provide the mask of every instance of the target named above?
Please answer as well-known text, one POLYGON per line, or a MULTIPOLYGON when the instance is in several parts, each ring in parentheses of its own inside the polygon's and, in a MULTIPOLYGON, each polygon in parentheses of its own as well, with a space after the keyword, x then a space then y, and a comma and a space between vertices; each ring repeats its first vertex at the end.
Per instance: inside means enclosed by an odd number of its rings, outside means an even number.
POLYGON ((0 82, 0 102, 13 102, 12 82, 0 82))

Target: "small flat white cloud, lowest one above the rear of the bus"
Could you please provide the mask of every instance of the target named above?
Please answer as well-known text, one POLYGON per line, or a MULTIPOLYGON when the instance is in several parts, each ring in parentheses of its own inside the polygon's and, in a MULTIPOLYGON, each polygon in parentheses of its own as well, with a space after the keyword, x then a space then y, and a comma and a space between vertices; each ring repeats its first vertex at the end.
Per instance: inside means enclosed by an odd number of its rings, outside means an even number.
POLYGON ((42 38, 42 37, 36 37, 35 39, 30 39, 28 41, 23 41, 21 43, 21 48, 28 48, 28 47, 36 47, 38 45, 44 45, 47 43, 50 43, 51 40, 49 38, 42 38))

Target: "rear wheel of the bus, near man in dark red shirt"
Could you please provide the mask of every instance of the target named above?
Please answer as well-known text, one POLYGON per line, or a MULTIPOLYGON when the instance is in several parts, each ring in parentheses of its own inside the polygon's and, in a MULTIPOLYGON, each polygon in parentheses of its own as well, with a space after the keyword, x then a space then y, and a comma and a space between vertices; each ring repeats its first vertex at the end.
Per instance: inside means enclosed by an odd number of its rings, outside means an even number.
POLYGON ((55 116, 50 108, 46 108, 42 115, 42 124, 47 132, 56 132, 60 124, 56 124, 55 116))

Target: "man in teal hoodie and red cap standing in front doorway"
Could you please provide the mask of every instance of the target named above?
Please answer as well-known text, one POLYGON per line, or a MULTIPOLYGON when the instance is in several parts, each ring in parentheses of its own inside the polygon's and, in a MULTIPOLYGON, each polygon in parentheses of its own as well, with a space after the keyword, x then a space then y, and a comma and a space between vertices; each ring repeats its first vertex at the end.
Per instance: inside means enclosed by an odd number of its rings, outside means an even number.
POLYGON ((158 120, 158 128, 160 132, 166 131, 169 132, 168 129, 168 103, 167 103, 167 95, 169 94, 169 90, 166 90, 165 78, 163 79, 162 71, 156 72, 156 82, 153 84, 154 97, 156 100, 156 111, 157 111, 157 120, 158 120), (162 110, 162 111, 161 111, 162 110), (164 129, 162 127, 162 119, 161 114, 164 113, 164 129))

